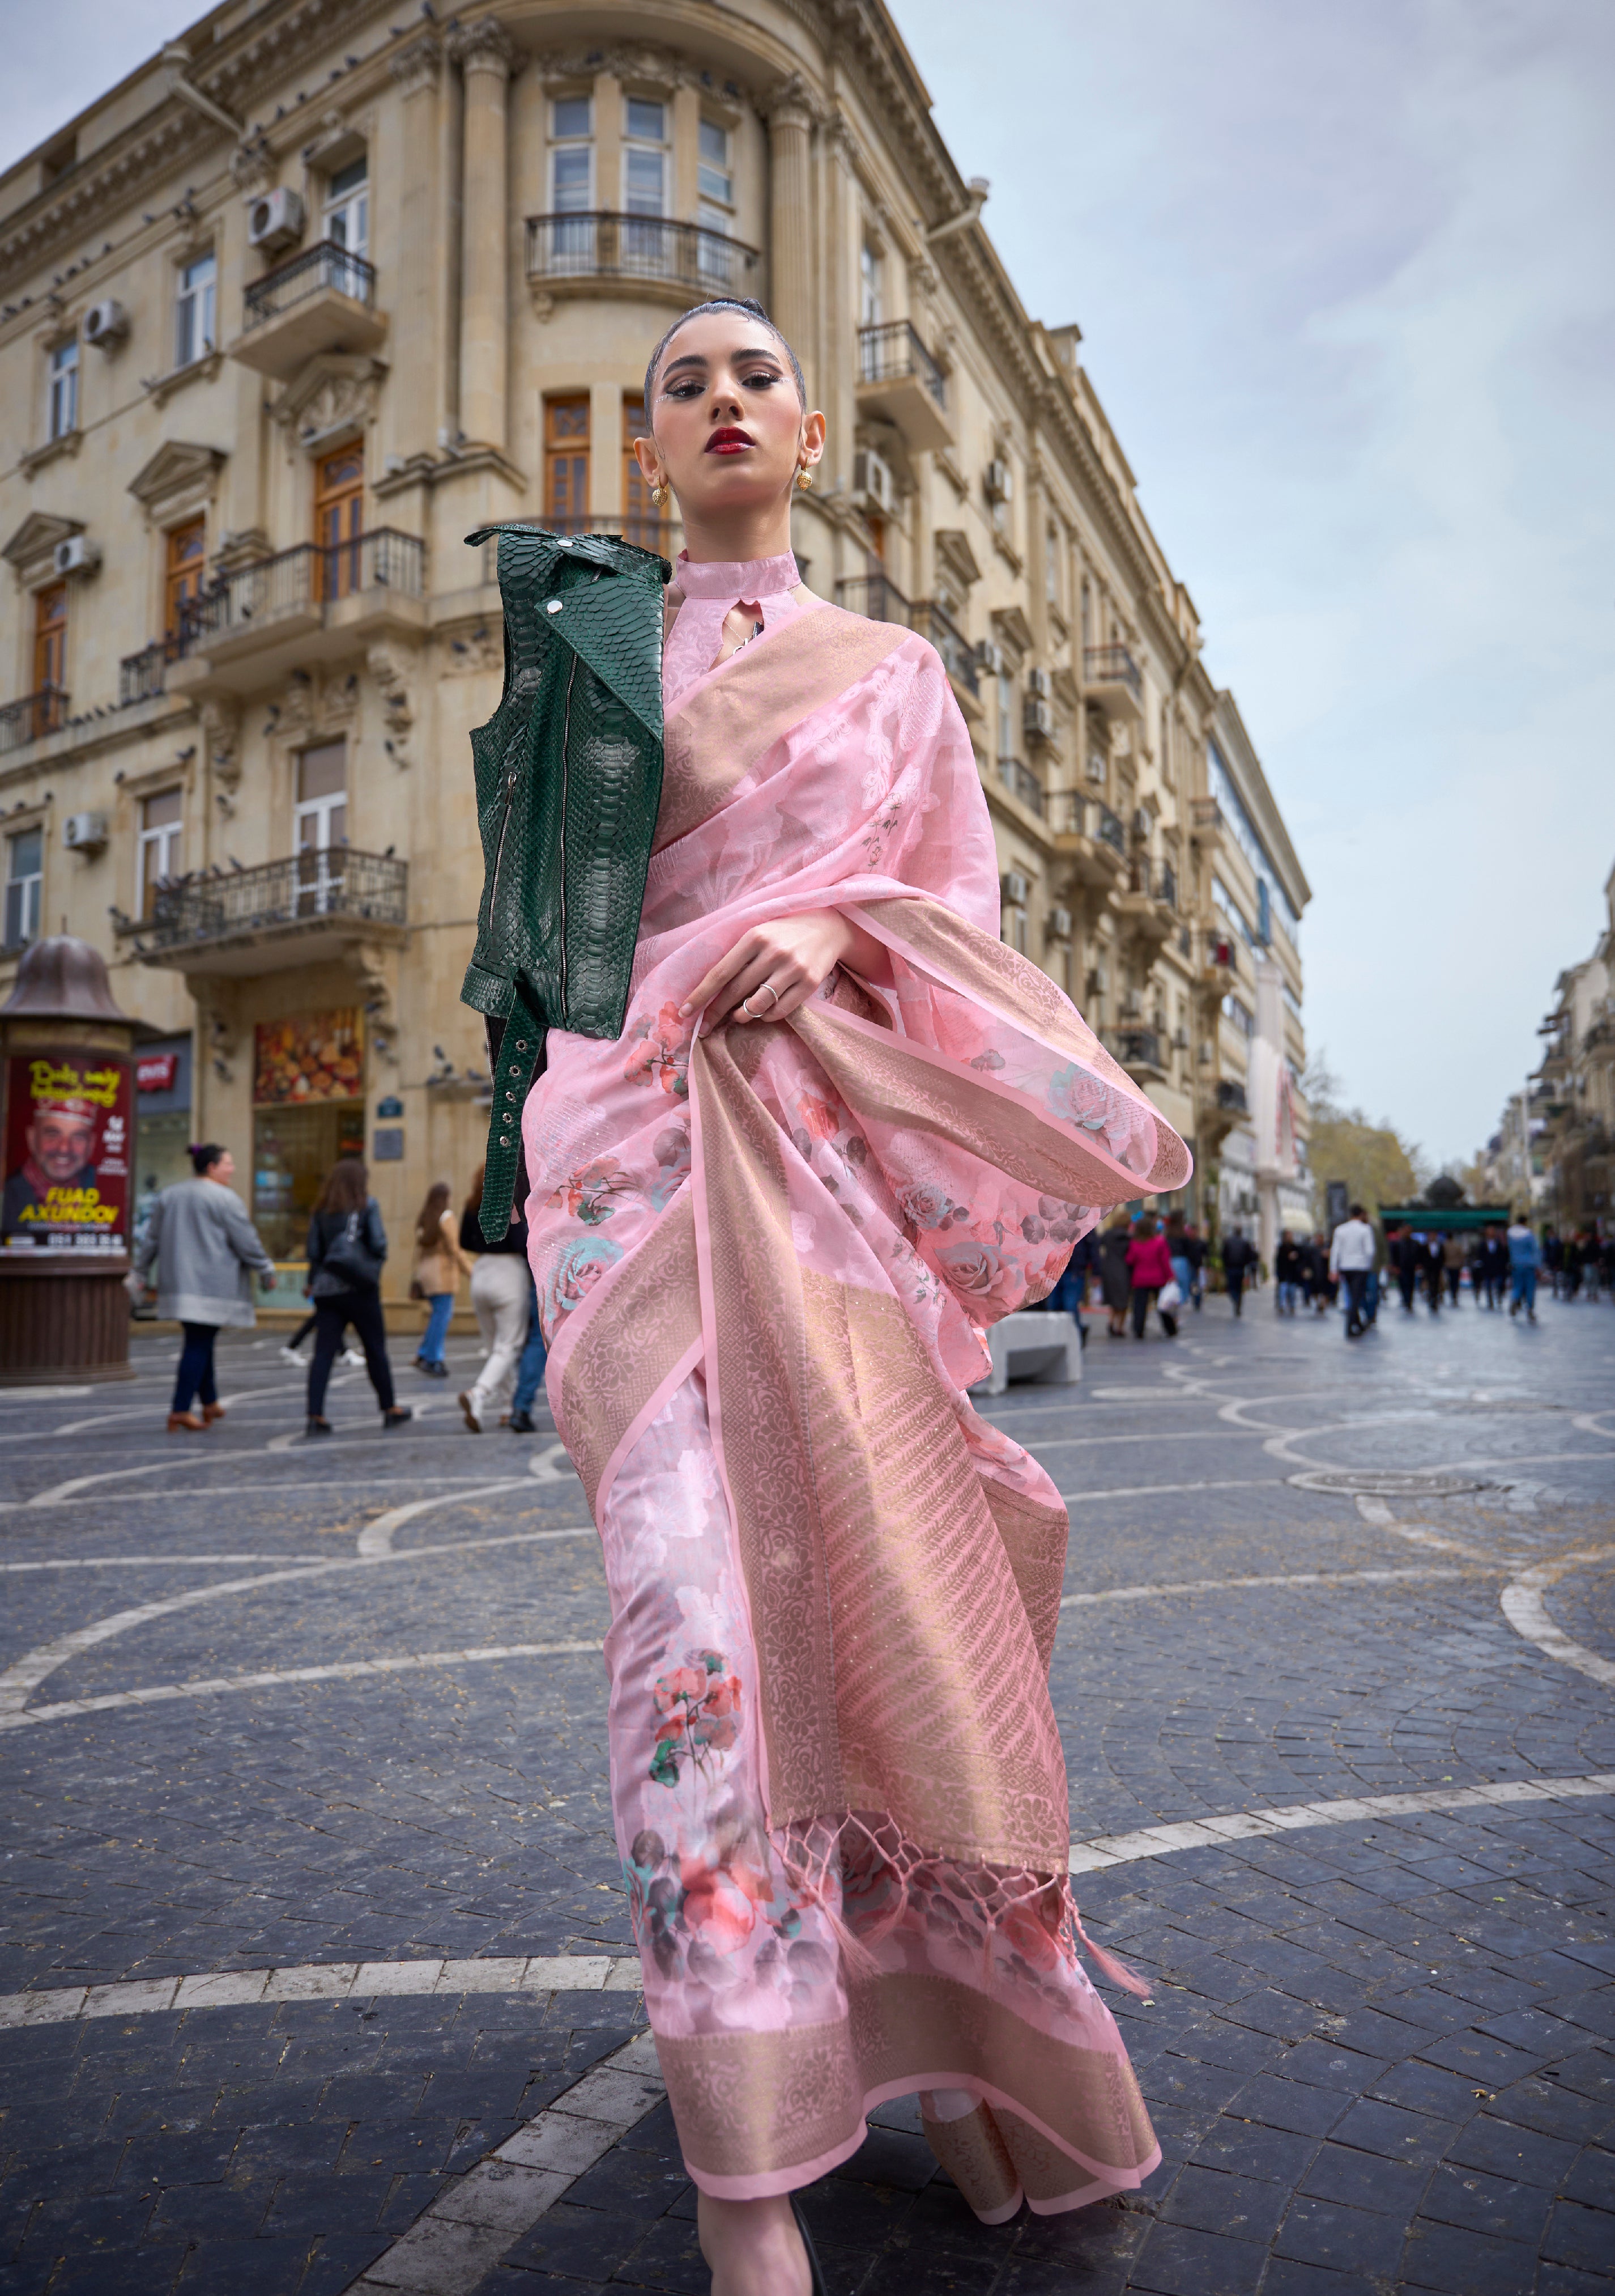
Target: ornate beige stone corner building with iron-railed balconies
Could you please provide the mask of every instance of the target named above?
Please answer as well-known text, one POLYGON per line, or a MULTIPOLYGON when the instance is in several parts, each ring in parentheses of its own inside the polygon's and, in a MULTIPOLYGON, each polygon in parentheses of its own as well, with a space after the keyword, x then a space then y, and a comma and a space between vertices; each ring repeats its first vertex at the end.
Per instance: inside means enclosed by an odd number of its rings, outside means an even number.
POLYGON ((674 551, 645 358, 757 294, 830 427, 805 576, 941 650, 1005 937, 1195 1141, 1207 1210, 1234 1169, 1278 1201, 1305 879, 1080 331, 1021 308, 885 9, 401 16, 227 0, 0 177, 0 994, 44 921, 103 948, 163 1031, 142 1185, 250 1143, 278 1254, 342 1150, 395 1228, 463 1187, 500 687, 463 535, 674 551))

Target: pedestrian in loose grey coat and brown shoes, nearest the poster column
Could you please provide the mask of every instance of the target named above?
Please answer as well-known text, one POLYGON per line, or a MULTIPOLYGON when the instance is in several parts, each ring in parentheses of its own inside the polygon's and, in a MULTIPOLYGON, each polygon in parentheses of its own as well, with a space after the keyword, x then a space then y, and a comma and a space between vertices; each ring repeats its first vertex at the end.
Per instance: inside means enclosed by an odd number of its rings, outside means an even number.
POLYGON ((184 1332, 174 1398, 167 1407, 170 1435, 181 1428, 200 1435, 225 1417, 213 1375, 213 1345, 220 1332, 252 1329, 257 1320, 252 1270, 259 1281, 275 1281, 275 1263, 229 1185, 236 1171, 229 1148, 202 1141, 188 1155, 195 1178, 174 1180, 156 1199, 128 1277, 131 1290, 145 1293, 156 1263, 156 1311, 184 1332))

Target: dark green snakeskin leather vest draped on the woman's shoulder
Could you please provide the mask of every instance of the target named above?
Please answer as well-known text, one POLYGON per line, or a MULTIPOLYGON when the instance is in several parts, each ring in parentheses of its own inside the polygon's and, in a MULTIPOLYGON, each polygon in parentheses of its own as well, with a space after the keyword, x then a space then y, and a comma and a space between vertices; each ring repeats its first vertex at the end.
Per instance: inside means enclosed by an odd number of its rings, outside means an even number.
POLYGON ((500 537, 505 693, 470 737, 484 884, 461 1001, 493 1068, 482 1233, 509 1224, 548 1029, 622 1035, 661 806, 665 558, 617 535, 500 537))

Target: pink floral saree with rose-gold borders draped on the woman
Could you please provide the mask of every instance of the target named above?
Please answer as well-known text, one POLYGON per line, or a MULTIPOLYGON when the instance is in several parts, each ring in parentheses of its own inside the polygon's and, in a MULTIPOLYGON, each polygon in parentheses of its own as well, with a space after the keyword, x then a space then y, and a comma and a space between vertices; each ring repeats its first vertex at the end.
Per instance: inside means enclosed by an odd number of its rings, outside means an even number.
POLYGON ((791 2190, 872 2103, 952 2089, 1035 2209, 1076 2206, 1158 2149, 1069 1890, 1067 1513, 966 1389, 984 1327, 1188 1153, 998 939, 924 641, 812 604, 679 698, 665 755, 624 1035, 551 1035, 523 1127, 686 2167, 791 2190), (881 978, 785 1024, 679 1017, 750 925, 826 907, 881 978))

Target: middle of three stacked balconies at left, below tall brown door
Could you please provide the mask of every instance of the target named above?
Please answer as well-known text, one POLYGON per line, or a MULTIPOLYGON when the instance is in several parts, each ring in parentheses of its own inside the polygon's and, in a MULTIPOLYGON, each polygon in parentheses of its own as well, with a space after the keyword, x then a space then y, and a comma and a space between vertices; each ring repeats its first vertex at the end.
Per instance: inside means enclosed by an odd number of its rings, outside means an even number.
POLYGON ((218 574, 181 608, 167 689, 252 693, 287 670, 424 629, 420 535, 379 526, 351 542, 301 542, 218 574))

